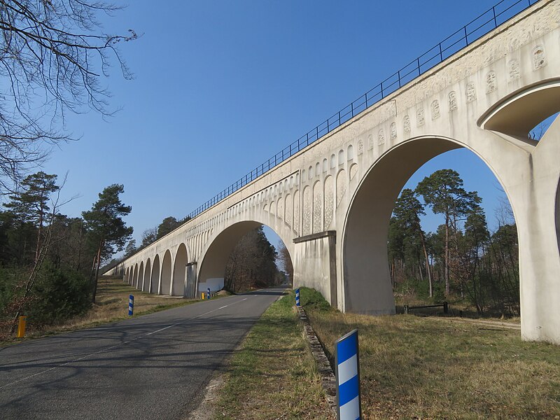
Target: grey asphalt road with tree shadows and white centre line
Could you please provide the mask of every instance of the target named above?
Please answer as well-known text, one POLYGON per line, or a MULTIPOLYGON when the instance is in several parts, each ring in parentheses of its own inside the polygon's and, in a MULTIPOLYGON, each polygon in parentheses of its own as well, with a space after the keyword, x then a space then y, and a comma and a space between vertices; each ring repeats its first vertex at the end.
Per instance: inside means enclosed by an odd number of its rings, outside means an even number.
POLYGON ((282 290, 0 348, 0 419, 188 419, 282 290))

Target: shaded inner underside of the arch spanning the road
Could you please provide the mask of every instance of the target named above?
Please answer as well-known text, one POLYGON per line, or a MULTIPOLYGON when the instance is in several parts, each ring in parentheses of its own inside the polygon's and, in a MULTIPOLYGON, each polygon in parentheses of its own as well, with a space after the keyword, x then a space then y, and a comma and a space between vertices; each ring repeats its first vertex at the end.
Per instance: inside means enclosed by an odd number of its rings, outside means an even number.
MULTIPOLYGON (((288 249, 290 258, 293 261, 290 244, 269 224, 254 220, 233 223, 222 230, 202 253, 202 262, 200 263, 200 269, 198 270, 196 290, 198 290, 200 283, 205 283, 209 279, 224 278, 225 266, 228 263, 228 259, 230 258, 233 249, 239 242, 239 239, 244 237, 244 235, 251 230, 258 228, 260 225, 267 226, 267 228, 270 228, 276 233, 276 235, 279 236, 288 249)), ((198 291, 196 293, 198 293, 198 291)))

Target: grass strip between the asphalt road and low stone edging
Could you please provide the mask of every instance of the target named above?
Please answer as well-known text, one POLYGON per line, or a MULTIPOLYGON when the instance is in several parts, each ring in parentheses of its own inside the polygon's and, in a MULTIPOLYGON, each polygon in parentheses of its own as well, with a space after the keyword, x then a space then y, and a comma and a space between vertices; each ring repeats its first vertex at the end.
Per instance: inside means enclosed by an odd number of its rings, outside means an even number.
POLYGON ((215 419, 331 419, 294 304, 272 304, 232 356, 215 419))

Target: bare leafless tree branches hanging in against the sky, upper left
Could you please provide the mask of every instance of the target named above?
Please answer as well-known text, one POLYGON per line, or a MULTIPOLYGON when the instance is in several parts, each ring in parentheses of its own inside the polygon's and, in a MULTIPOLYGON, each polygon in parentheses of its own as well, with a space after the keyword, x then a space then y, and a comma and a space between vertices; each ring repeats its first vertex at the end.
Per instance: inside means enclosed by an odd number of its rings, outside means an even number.
POLYGON ((104 34, 98 17, 120 7, 96 0, 0 0, 0 195, 10 193, 53 146, 73 139, 66 113, 110 116, 101 80, 118 45, 137 38, 104 34))

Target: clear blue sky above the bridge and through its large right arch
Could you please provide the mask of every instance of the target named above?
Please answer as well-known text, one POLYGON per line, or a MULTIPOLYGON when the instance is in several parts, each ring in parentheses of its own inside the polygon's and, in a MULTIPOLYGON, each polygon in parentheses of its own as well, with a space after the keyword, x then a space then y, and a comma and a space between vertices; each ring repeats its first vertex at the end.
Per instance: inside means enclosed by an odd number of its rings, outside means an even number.
MULTIPOLYGON (((79 216, 111 183, 123 183, 134 237, 183 218, 281 148, 442 41, 496 0, 134 0, 107 32, 133 28, 121 46, 135 75, 106 79, 111 104, 71 115, 79 141, 53 151, 45 172, 68 172, 62 212, 79 216)), ((428 162, 458 170, 493 219, 498 181, 468 151, 428 162)), ((426 219, 427 230, 440 221, 426 219)), ((273 241, 274 243, 274 241, 273 241)))

